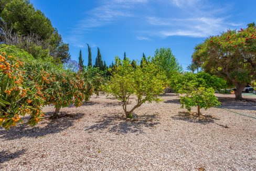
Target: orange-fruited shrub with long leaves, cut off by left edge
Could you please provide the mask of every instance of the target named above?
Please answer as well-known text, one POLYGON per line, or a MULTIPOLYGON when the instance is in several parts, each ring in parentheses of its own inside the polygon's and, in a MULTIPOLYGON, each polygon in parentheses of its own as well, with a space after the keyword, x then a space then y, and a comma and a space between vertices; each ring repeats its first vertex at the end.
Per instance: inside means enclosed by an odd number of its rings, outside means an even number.
POLYGON ((41 91, 26 77, 24 62, 5 52, 0 53, 0 92, 0 126, 5 129, 22 122, 25 114, 30 115, 30 125, 37 124, 44 116, 41 91))

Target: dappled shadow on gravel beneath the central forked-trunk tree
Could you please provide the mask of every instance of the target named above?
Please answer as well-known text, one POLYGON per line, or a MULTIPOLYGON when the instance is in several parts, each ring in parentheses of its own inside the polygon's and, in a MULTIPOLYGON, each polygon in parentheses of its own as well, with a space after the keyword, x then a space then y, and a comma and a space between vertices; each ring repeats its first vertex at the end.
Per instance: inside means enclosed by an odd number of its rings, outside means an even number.
POLYGON ((95 122, 94 125, 87 126, 84 130, 92 131, 108 130, 115 133, 143 133, 143 127, 154 127, 159 124, 156 115, 138 116, 136 121, 126 120, 120 115, 103 116, 102 121, 95 122))

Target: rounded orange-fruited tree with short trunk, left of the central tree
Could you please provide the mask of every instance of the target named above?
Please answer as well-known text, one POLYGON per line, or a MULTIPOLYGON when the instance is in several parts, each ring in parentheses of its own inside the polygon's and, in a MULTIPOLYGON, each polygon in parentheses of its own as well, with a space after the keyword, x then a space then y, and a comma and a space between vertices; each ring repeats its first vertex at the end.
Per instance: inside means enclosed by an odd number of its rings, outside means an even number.
POLYGON ((43 79, 46 82, 46 104, 54 104, 56 113, 70 104, 76 107, 82 105, 92 94, 92 86, 86 83, 80 74, 52 72, 50 77, 43 79))

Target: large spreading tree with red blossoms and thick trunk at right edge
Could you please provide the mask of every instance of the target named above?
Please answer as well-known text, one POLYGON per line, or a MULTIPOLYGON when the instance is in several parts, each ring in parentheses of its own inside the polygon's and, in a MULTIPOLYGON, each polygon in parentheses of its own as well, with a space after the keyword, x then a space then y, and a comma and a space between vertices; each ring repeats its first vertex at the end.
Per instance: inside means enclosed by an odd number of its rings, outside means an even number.
POLYGON ((206 72, 226 78, 236 86, 236 100, 256 74, 256 27, 228 30, 207 38, 193 56, 200 57, 206 72))

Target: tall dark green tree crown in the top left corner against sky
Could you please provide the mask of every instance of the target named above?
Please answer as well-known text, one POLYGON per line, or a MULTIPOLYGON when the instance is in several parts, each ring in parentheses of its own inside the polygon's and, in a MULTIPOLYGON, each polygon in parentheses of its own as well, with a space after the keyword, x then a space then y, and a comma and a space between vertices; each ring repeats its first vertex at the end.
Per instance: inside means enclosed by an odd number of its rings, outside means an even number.
MULTIPOLYGON (((20 47, 33 53, 37 46, 49 50, 49 55, 62 63, 70 59, 68 44, 62 41, 58 30, 40 10, 36 10, 27 0, 0 1, 0 16, 4 20, 0 28, 12 30, 19 37, 30 38, 29 41, 18 41, 20 47), (40 42, 40 45, 37 45, 40 42), (35 46, 36 45, 36 46, 35 46), (28 48, 29 47, 29 48, 28 48)), ((15 37, 14 35, 12 35, 15 37)), ((13 45, 13 44, 11 44, 13 45)))

